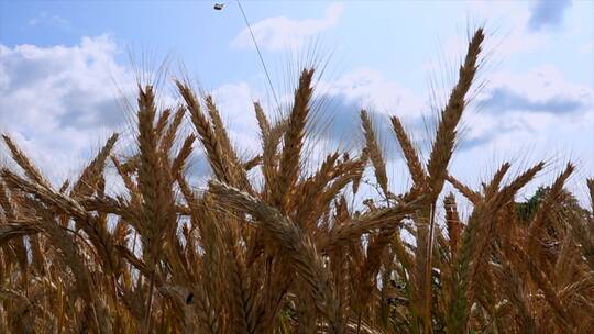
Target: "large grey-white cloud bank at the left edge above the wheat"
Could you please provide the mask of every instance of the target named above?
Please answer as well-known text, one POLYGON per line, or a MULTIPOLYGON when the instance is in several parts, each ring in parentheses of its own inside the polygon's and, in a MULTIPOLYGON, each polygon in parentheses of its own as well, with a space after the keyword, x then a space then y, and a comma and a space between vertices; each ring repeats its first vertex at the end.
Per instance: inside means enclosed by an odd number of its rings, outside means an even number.
POLYGON ((107 37, 75 46, 0 45, 0 131, 11 134, 56 180, 82 167, 125 125, 116 87, 132 77, 107 37))

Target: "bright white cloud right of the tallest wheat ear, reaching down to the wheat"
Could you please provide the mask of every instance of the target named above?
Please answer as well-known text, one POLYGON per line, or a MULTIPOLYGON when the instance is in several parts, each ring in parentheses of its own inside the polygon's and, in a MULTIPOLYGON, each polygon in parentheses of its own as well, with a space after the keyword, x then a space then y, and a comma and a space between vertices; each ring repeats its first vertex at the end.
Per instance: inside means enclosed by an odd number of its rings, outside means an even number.
POLYGON ((571 160, 576 164, 580 175, 578 182, 570 182, 569 188, 584 200, 586 197, 582 196, 580 182, 583 177, 592 177, 594 170, 592 88, 568 81, 552 66, 541 66, 521 74, 498 71, 490 75, 490 82, 477 100, 491 99, 498 90, 516 100, 493 110, 481 108, 479 102, 479 112, 464 114, 463 141, 471 147, 455 155, 453 174, 477 183, 479 177, 487 178, 495 171, 494 162, 510 160, 519 169, 541 159, 552 163, 542 178, 528 188, 529 193, 536 186, 551 182, 564 162, 571 160), (574 107, 572 110, 563 110, 563 105, 570 104, 574 107), (477 175, 477 166, 490 166, 486 169, 491 169, 477 175))

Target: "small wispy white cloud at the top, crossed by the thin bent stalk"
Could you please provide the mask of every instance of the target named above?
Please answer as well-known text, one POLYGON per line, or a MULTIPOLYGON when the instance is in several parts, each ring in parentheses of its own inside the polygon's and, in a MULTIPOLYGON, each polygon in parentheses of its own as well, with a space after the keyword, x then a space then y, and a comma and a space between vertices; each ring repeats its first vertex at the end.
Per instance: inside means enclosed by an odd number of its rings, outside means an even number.
MULTIPOLYGON (((271 51, 298 48, 312 37, 334 26, 343 5, 331 3, 322 19, 293 20, 286 16, 268 18, 252 24, 257 45, 271 51)), ((232 42, 233 47, 254 47, 250 31, 243 30, 232 42)))

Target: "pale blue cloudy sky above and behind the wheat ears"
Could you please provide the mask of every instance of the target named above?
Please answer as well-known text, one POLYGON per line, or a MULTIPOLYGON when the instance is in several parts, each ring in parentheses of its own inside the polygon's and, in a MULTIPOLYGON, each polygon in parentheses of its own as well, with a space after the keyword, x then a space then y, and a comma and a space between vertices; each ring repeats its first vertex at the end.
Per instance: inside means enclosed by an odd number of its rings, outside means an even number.
MULTIPOLYGON (((0 0, 0 131, 47 174, 72 176, 92 155, 87 147, 130 127, 118 101, 134 88, 131 51, 136 63, 143 55, 153 59, 147 70, 168 55, 167 80, 183 63, 213 93, 235 142, 255 154, 251 101, 272 103, 270 89, 239 8, 230 2, 215 11, 213 3, 0 0)), ((380 127, 400 115, 427 153, 424 123, 455 78, 469 29, 485 24, 485 86, 465 115, 453 174, 477 185, 504 160, 519 168, 549 158, 547 181, 572 159, 576 191, 594 175, 592 1, 242 3, 282 100, 296 81, 289 64, 311 58, 312 45, 329 59, 318 96, 330 101, 321 118, 336 122, 312 144, 319 155, 323 147, 360 144, 353 121, 361 107, 380 127)), ((164 103, 174 99, 165 85, 164 103)), ((389 133, 383 142, 393 176, 406 178, 389 133)))

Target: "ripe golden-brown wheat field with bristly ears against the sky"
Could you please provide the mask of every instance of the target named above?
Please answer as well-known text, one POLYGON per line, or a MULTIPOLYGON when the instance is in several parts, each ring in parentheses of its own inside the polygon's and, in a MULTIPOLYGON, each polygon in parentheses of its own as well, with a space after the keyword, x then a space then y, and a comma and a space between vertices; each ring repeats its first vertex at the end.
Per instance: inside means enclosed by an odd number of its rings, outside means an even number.
MULTIPOLYGON (((0 333, 591 333, 594 202, 564 190, 574 165, 525 203, 516 194, 546 162, 493 166, 481 189, 449 172, 483 40, 471 36, 426 162, 392 118, 413 180, 400 194, 366 111, 360 149, 302 167, 314 68, 285 118, 254 103, 262 147, 249 160, 185 81, 177 109, 139 86, 136 152, 116 152, 113 134, 62 187, 3 135, 0 333), (195 149, 207 187, 187 175, 195 149), (108 169, 122 193, 107 191, 108 169), (352 203, 367 169, 377 196, 352 203)), ((594 200, 594 180, 580 181, 594 200)))

